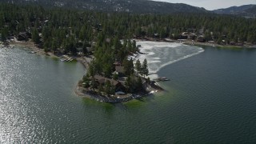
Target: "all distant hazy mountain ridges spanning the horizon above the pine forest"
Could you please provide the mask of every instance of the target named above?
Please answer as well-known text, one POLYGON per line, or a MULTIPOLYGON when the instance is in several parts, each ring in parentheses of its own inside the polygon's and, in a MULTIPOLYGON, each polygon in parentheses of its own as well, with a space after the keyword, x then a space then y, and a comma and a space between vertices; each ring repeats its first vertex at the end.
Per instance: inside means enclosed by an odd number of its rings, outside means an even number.
POLYGON ((218 10, 184 3, 156 2, 152 0, 2 0, 14 4, 35 4, 45 7, 94 10, 102 12, 126 12, 135 14, 231 14, 246 18, 256 18, 256 5, 231 6, 218 10))

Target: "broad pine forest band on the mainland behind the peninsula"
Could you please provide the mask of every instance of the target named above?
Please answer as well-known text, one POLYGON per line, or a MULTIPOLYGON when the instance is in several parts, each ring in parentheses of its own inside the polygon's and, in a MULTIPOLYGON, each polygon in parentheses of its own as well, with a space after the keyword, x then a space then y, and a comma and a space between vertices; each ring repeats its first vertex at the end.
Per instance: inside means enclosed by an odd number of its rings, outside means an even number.
POLYGON ((45 50, 65 53, 82 46, 97 48, 106 40, 112 45, 115 38, 178 39, 183 32, 225 44, 256 42, 255 19, 218 14, 102 13, 1 3, 0 28, 2 39, 23 35, 45 50))

